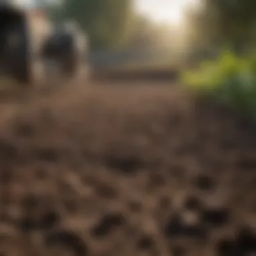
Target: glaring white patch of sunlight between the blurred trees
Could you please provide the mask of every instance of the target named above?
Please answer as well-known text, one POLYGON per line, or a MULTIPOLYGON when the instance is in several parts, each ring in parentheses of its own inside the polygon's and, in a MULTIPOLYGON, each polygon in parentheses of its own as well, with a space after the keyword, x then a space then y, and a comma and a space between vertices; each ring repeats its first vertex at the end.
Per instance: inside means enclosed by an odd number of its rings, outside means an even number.
POLYGON ((135 0, 137 9, 154 22, 179 25, 184 18, 184 7, 195 0, 135 0))

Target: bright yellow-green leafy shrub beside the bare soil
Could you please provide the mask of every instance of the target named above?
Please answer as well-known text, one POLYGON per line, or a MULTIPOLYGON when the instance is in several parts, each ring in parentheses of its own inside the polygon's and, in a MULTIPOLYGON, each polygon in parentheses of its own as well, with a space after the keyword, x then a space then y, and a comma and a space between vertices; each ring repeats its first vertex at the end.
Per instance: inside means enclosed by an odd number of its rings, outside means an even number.
POLYGON ((216 61, 182 73, 181 82, 199 96, 220 99, 256 121, 256 58, 225 51, 216 61))

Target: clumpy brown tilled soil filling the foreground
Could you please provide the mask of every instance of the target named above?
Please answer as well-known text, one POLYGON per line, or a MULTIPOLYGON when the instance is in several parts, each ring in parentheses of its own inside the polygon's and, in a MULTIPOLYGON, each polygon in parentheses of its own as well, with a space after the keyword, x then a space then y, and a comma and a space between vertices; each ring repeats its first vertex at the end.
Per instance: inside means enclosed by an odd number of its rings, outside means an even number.
POLYGON ((119 83, 1 103, 0 255, 255 253, 255 130, 119 83))

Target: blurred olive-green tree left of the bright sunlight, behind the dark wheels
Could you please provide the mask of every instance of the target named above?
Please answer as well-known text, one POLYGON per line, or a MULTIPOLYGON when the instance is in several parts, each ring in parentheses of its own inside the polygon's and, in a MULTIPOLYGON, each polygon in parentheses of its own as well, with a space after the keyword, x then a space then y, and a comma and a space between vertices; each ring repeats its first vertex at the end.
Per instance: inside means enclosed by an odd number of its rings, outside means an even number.
POLYGON ((121 46, 133 26, 132 0, 66 0, 52 9, 55 20, 75 19, 90 36, 93 48, 121 46))

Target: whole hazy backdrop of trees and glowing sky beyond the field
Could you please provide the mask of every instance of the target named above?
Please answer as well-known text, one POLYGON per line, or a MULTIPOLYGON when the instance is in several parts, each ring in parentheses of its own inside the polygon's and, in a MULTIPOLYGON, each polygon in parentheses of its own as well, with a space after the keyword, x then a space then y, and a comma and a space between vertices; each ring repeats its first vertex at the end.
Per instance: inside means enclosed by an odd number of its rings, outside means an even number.
POLYGON ((77 20, 90 38, 95 65, 173 65, 217 57, 226 47, 248 52, 255 42, 253 0, 34 0, 27 5, 45 6, 53 22, 77 20))

